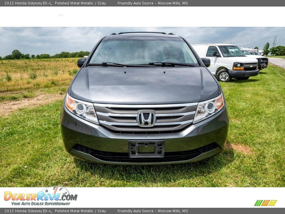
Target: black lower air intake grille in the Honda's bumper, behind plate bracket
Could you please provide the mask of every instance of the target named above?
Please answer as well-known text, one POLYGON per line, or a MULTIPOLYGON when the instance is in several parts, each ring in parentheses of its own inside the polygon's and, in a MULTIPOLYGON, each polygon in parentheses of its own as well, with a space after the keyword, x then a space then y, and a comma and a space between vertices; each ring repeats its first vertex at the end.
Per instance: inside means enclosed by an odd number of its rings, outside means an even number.
POLYGON ((208 145, 202 146, 198 149, 181 151, 181 152, 164 152, 163 158, 130 158, 129 153, 127 152, 99 151, 91 149, 89 147, 85 147, 80 144, 76 144, 73 147, 73 149, 79 152, 92 155, 93 157, 98 158, 99 160, 102 161, 127 162, 127 163, 144 163, 144 162, 159 163, 159 162, 170 162, 170 161, 187 161, 192 158, 196 158, 198 155, 201 155, 202 153, 209 152, 218 147, 219 145, 216 142, 213 142, 208 145))

